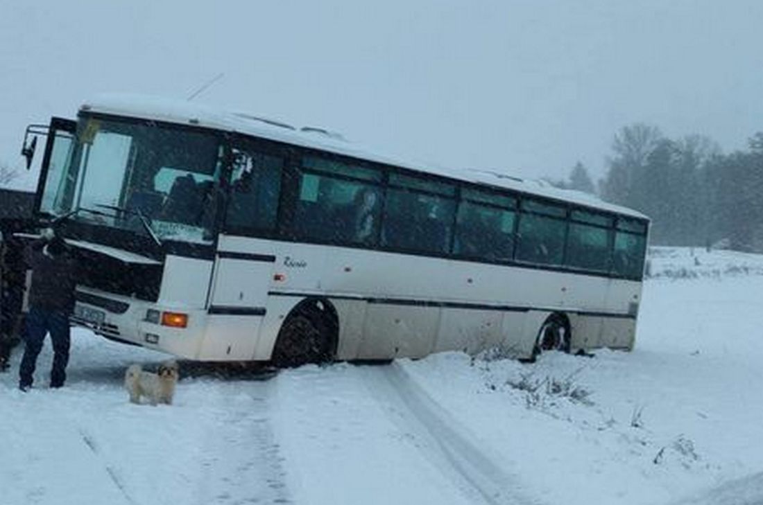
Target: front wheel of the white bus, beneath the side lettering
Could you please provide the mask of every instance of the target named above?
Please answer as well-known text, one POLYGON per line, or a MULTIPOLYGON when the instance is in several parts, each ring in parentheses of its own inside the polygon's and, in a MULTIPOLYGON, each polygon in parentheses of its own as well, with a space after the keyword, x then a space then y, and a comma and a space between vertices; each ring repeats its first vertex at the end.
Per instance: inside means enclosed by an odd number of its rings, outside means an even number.
POLYGON ((282 368, 329 363, 336 353, 336 312, 324 300, 301 302, 278 332, 272 363, 282 368))

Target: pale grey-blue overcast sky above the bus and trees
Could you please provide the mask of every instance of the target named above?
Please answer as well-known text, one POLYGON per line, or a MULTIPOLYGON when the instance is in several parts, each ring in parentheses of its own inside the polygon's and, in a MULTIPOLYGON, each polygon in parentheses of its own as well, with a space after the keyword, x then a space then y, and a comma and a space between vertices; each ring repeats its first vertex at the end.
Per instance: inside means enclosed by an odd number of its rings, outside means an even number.
POLYGON ((0 161, 93 94, 219 73, 195 101, 520 177, 600 177, 636 121, 725 151, 763 130, 757 0, 201 3, 0 0, 0 161))

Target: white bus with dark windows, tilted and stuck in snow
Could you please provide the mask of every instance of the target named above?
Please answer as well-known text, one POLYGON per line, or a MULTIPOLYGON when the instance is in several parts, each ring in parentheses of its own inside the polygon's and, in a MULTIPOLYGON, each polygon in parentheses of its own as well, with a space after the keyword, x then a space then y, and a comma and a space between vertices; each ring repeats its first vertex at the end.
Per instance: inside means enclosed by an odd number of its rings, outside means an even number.
POLYGON ((75 324, 282 366, 632 349, 649 226, 581 193, 125 95, 53 118, 36 209, 79 252, 75 324))

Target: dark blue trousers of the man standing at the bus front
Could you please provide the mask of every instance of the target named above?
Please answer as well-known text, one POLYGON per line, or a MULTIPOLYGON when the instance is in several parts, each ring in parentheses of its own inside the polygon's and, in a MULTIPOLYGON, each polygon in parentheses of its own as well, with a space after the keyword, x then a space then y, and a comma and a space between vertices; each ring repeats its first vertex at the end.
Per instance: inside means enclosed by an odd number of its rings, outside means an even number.
POLYGON ((50 372, 50 387, 60 388, 66 382, 66 364, 69 363, 69 315, 61 311, 30 308, 26 318, 27 331, 24 335, 26 347, 21 359, 19 385, 28 388, 34 381, 37 356, 43 348, 45 335, 50 332, 53 341, 53 369, 50 372))

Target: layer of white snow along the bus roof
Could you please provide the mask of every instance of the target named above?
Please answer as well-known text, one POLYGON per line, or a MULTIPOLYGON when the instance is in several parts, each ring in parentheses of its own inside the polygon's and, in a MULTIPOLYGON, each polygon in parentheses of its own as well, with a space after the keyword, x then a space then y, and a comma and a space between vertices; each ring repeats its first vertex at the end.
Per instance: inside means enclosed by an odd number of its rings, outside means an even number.
POLYGON ((431 163, 404 161, 392 155, 383 155, 378 149, 347 142, 340 134, 316 126, 291 126, 280 120, 259 117, 249 113, 228 112, 204 104, 143 94, 99 94, 81 107, 82 111, 140 117, 167 123, 202 126, 245 135, 258 136, 276 142, 301 145, 339 155, 347 155, 385 165, 395 165, 428 174, 443 175, 461 181, 503 187, 521 193, 530 193, 555 200, 565 200, 581 206, 612 213, 648 219, 642 213, 623 206, 599 200, 593 195, 553 187, 544 181, 526 180, 494 170, 465 170, 446 168, 431 163))

